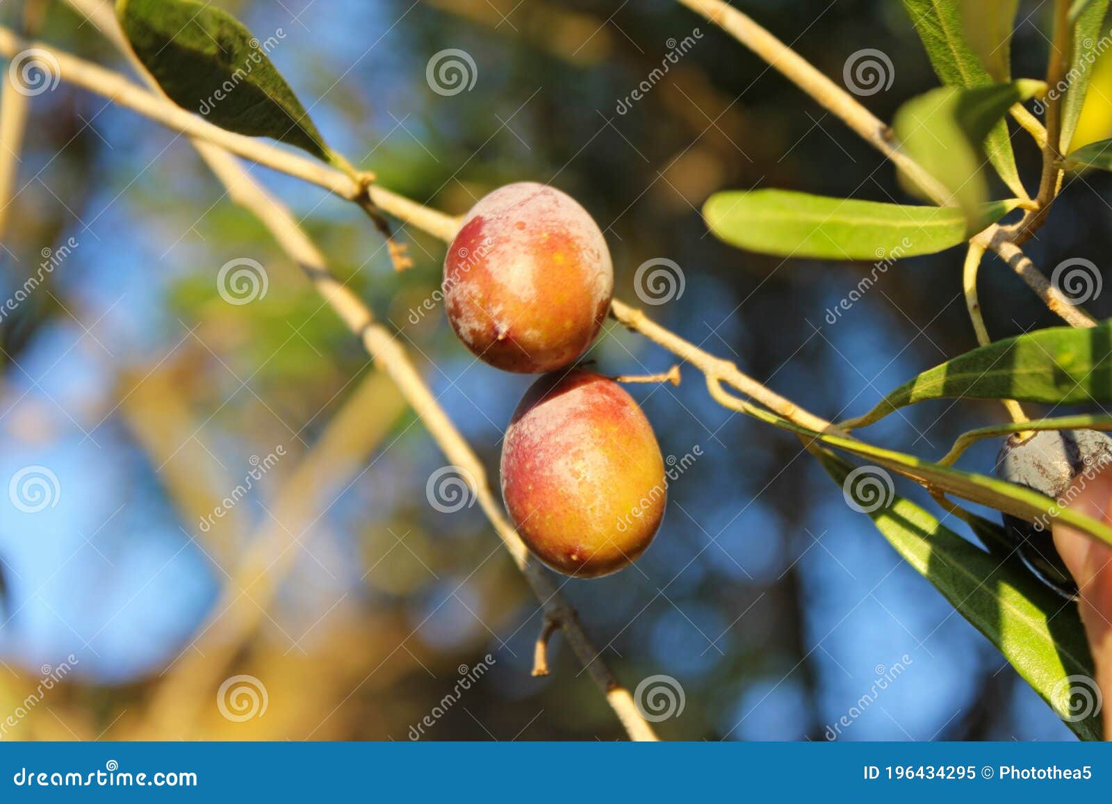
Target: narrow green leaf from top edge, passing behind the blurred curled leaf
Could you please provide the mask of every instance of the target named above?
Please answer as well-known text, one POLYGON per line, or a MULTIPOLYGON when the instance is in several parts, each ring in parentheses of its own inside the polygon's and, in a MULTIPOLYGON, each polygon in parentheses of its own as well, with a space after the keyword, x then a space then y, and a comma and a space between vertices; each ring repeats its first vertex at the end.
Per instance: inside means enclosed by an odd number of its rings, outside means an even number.
MULTIPOLYGON (((963 36, 959 0, 903 0, 903 4, 923 40, 931 66, 944 85, 973 89, 994 83, 992 75, 963 36)), ((1016 196, 1023 197, 1025 191, 1004 120, 997 120, 992 127, 984 148, 1004 183, 1016 196)))

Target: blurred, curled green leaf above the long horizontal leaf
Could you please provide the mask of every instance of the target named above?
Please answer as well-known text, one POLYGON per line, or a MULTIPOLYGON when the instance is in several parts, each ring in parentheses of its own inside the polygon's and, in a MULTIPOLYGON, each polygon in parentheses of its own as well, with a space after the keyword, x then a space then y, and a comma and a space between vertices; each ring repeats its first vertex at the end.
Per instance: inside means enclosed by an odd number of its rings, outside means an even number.
POLYGON ((963 209, 989 197, 981 166, 987 137, 1009 107, 1034 91, 1034 81, 974 89, 941 87, 896 111, 893 128, 903 149, 953 193, 963 209))

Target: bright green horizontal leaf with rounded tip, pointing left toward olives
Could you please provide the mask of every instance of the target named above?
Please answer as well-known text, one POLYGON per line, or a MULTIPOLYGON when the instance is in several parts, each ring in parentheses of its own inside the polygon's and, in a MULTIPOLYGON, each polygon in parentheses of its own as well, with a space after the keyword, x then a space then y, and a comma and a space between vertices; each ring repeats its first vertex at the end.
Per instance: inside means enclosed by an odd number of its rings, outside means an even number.
POLYGON ((901 259, 943 251, 1015 209, 999 201, 971 228, 954 207, 915 207, 790 190, 717 192, 703 207, 711 231, 738 248, 782 257, 901 259))

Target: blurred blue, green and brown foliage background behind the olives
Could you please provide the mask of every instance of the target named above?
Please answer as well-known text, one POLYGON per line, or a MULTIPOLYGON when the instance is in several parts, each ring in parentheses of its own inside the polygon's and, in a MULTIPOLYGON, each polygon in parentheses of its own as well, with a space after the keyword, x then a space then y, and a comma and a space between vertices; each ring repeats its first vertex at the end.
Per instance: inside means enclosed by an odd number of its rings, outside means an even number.
MULTIPOLYGON (((619 297, 636 300, 645 260, 676 261, 684 292, 649 315, 815 413, 861 414, 975 346, 957 250, 884 271, 832 324, 826 310, 872 266, 782 261, 706 234, 698 208, 718 189, 910 199, 867 146, 669 0, 219 4, 261 39, 285 32, 272 60, 329 141, 383 186, 456 214, 510 181, 566 190, 605 229, 619 297), (694 29, 697 44, 619 113, 694 29), (445 97, 426 67, 448 48, 473 57, 477 78, 445 97)), ((882 118, 935 83, 898 3, 737 6, 836 80, 854 52, 886 53, 893 85, 864 99, 882 118)), ((1037 77, 1048 9, 1021 7, 1014 72, 1037 77)), ((4 24, 21 16, 0 0, 4 24)), ((63 3, 48 3, 39 36, 126 68, 63 3)), ((1112 136, 1110 98, 1105 60, 1075 145, 1112 136)), ((1037 152, 1013 140, 1033 190, 1037 152)), ((57 477, 41 512, 0 498, 0 721, 26 711, 2 738, 406 740, 487 654, 489 672, 423 738, 623 736, 560 637, 553 674, 530 677, 538 605, 477 506, 429 505, 444 457, 185 139, 62 83, 33 99, 19 157, 0 292, 33 275, 43 249, 78 245, 0 321, 0 478, 28 466, 57 477), (229 305, 216 276, 242 258, 265 266, 267 292, 229 305), (34 693, 63 663, 63 683, 34 693), (221 713, 219 688, 237 675, 265 688, 260 715, 221 713)), ((357 209, 255 172, 397 330, 497 478, 529 378, 476 363, 439 307, 411 315, 438 286, 443 245, 404 231, 416 267, 397 274, 357 209)), ((1030 245, 1048 274, 1071 257, 1102 265, 1110 189, 1085 176, 1065 190, 1030 245)), ((981 276, 994 337, 1054 324, 1006 266, 981 276)), ((1106 316, 1108 298, 1090 309, 1106 316)), ((589 356, 607 374, 664 370, 671 357, 613 325, 589 356)), ((665 455, 698 445, 703 457, 672 486, 636 567, 564 592, 631 689, 654 674, 682 687, 663 737, 824 740, 856 707, 840 738, 1070 738, 795 439, 718 408, 694 371, 678 388, 632 393, 665 455), (862 706, 896 663, 905 672, 862 706)), ((939 457, 1002 416, 989 403, 927 404, 873 435, 939 457)), ((963 465, 991 472, 995 449, 963 465)))

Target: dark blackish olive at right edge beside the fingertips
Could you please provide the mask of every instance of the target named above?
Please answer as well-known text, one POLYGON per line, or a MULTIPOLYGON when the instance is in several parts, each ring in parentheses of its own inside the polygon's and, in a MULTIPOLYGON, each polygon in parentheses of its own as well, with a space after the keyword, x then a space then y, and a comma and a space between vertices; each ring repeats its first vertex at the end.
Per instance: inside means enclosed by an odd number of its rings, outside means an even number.
MULTIPOLYGON (((1110 464, 1112 438, 1106 433, 1042 430, 1024 439, 1019 434, 1009 436, 996 458, 996 476, 1069 502, 1071 486, 1081 486, 1110 464)), ((1054 547, 1050 522, 1036 526, 1004 514, 1004 529, 1020 558, 1040 580, 1064 597, 1076 597, 1078 585, 1054 547)))

